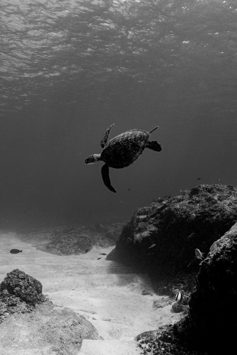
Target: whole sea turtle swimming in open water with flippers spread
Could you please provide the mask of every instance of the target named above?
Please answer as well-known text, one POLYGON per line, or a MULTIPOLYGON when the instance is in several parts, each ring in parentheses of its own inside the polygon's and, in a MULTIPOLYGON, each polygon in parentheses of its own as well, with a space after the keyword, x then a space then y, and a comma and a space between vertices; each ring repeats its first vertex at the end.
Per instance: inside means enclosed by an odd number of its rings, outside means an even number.
POLYGON ((150 133, 155 131, 159 126, 155 127, 150 132, 143 130, 131 130, 112 138, 108 142, 109 132, 114 126, 112 124, 108 130, 105 131, 104 136, 100 142, 103 151, 100 154, 89 155, 86 158, 86 164, 93 164, 95 162, 103 161, 101 174, 104 184, 112 192, 116 192, 114 187, 110 184, 109 167, 120 169, 125 168, 137 160, 143 153, 145 148, 152 149, 155 152, 162 150, 157 141, 148 141, 150 133))

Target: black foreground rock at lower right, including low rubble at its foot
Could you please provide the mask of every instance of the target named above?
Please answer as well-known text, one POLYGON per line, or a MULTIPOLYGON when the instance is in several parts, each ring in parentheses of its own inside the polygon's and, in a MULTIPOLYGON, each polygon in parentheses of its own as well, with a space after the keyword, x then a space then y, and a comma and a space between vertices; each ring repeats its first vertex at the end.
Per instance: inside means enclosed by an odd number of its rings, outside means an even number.
POLYGON ((143 354, 230 354, 235 348, 237 223, 201 262, 189 312, 173 326, 137 336, 143 354))

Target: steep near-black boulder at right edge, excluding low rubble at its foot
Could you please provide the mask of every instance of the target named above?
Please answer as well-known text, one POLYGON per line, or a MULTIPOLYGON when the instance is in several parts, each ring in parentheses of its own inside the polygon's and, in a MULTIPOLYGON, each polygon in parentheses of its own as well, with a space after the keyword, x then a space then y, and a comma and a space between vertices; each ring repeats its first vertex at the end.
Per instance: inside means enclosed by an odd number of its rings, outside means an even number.
MULTIPOLYGON (((237 328, 237 223, 215 241, 197 275, 197 290, 189 301, 184 321, 189 346, 217 354, 235 348, 237 328), (216 342, 215 339, 218 339, 216 342)), ((182 332, 181 332, 182 334, 182 332)), ((185 335, 184 335, 185 336, 185 335)))

